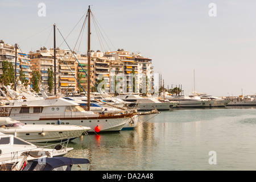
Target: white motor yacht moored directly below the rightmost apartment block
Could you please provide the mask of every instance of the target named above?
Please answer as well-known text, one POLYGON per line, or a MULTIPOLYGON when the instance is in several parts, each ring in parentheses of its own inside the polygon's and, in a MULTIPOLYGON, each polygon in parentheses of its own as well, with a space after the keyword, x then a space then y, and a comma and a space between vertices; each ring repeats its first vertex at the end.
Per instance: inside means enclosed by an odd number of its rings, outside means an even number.
POLYGON ((145 98, 135 94, 119 95, 117 98, 125 102, 130 102, 131 104, 128 106, 138 110, 170 110, 175 105, 172 102, 160 102, 155 98, 145 98))

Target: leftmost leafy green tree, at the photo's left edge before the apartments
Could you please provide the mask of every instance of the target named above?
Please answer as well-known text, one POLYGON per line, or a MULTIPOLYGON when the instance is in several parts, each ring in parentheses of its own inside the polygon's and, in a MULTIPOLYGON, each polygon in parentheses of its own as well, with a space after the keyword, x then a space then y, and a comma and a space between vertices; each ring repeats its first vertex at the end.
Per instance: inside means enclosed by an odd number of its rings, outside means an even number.
POLYGON ((13 63, 9 61, 2 61, 2 71, 3 75, 0 77, 0 81, 3 85, 8 85, 10 83, 14 84, 15 80, 15 70, 13 67, 13 63))

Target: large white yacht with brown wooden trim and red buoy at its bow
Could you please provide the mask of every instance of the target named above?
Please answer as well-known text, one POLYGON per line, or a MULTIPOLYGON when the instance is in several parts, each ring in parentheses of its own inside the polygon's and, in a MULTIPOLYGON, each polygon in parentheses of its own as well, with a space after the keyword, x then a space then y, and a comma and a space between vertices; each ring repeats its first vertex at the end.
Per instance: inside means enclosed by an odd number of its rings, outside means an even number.
POLYGON ((0 106, 0 115, 32 125, 78 125, 90 127, 88 132, 120 131, 134 113, 100 114, 85 111, 79 104, 59 97, 43 100, 14 100, 0 106))

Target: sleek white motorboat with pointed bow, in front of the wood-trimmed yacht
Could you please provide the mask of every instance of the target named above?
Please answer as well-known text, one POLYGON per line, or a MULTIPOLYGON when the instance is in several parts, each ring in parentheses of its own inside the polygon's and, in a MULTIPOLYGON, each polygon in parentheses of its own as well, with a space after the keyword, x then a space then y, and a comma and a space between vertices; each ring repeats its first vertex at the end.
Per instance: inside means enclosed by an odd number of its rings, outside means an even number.
POLYGON ((28 142, 56 142, 75 139, 90 130, 76 125, 24 125, 9 117, 0 117, 0 132, 12 134, 28 142))

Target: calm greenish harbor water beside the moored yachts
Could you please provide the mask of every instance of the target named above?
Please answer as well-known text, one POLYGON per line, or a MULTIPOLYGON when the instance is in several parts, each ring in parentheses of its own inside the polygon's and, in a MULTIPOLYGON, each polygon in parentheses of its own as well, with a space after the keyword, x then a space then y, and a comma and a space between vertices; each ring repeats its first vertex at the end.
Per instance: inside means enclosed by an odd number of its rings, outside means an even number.
POLYGON ((134 130, 68 146, 74 149, 66 156, 89 159, 91 171, 255 170, 256 107, 161 111, 134 130))

